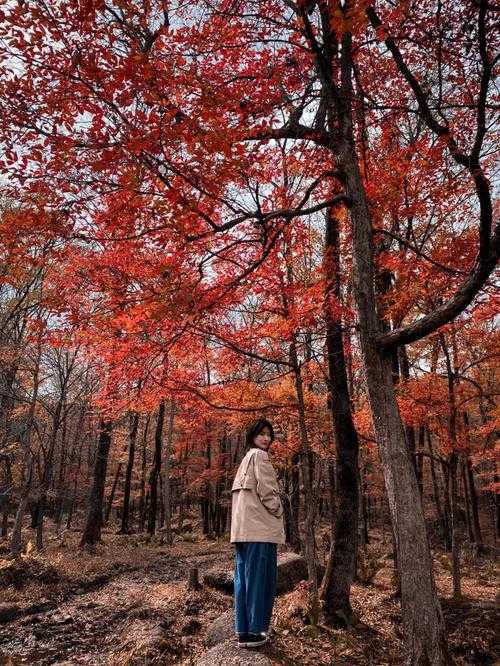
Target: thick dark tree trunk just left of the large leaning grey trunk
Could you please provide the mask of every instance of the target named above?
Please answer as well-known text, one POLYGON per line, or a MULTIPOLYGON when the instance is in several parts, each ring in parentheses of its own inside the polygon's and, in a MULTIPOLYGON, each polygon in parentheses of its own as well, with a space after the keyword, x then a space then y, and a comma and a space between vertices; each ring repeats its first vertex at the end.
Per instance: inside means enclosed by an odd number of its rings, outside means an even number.
POLYGON ((342 322, 335 317, 333 298, 340 298, 338 221, 332 211, 326 219, 325 293, 326 348, 328 355, 328 389, 336 447, 335 517, 329 558, 321 585, 325 621, 349 625, 353 620, 350 590, 356 573, 358 541, 359 442, 352 420, 347 371, 342 340, 342 322))

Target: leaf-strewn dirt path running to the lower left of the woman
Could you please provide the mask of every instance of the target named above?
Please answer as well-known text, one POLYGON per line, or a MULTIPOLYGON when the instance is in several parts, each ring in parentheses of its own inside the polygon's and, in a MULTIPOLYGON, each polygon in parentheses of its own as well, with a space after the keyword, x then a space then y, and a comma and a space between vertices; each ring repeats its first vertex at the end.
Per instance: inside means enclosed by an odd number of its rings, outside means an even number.
POLYGON ((226 557, 213 551, 162 555, 143 570, 119 573, 55 610, 2 625, 0 664, 120 663, 120 653, 130 654, 141 641, 158 638, 172 623, 169 602, 184 594, 180 583, 188 568, 198 566, 202 573, 226 557))

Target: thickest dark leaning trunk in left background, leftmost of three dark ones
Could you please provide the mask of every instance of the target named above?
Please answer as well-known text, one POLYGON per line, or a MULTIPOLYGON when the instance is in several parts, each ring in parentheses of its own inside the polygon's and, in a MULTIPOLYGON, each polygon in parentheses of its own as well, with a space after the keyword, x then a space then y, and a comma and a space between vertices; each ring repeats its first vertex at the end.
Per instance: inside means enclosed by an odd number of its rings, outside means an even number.
POLYGON ((111 446, 112 424, 101 419, 99 423, 99 441, 94 465, 94 480, 89 498, 89 512, 83 530, 80 547, 95 546, 101 541, 102 506, 104 502, 104 487, 106 484, 106 471, 108 468, 109 449, 111 446))

